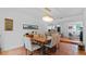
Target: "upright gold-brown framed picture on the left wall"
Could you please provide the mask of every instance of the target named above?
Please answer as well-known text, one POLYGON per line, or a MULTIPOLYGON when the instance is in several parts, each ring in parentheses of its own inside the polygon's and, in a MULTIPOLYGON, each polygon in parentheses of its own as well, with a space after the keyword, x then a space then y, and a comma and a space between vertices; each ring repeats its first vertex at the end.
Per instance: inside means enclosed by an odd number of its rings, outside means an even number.
POLYGON ((13 20, 4 18, 4 30, 13 30, 13 20))

